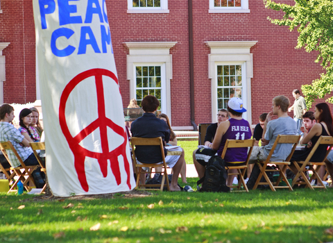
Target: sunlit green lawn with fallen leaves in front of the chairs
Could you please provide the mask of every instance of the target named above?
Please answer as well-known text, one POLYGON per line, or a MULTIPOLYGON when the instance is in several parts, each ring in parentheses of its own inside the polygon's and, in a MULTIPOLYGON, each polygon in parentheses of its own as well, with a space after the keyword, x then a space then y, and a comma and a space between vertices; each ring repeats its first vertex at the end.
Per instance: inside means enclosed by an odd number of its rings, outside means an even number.
MULTIPOLYGON (((188 181, 195 186, 196 178, 188 181)), ((333 228, 327 231, 333 225, 333 190, 154 192, 56 201, 1 193, 0 215, 0 242, 333 241, 333 228), (90 230, 96 224, 99 230, 90 230)))

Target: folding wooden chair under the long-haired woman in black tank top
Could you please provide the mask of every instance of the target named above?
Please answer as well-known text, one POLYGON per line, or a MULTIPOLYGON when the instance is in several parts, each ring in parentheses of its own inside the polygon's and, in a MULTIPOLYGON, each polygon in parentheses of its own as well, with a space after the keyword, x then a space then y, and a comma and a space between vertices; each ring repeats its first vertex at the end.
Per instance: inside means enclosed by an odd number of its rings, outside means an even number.
POLYGON ((297 172, 295 178, 293 179, 292 186, 295 184, 298 184, 298 185, 305 185, 305 187, 309 187, 309 188, 311 188, 311 190, 314 190, 314 188, 327 189, 325 187, 323 181, 321 181, 320 176, 318 176, 318 171, 323 165, 325 165, 325 160, 328 156, 328 153, 330 153, 332 147, 333 147, 333 137, 321 136, 321 137, 319 137, 319 139, 316 142, 316 144, 314 145, 314 147, 311 149, 311 152, 309 153, 309 155, 307 156, 307 159, 305 161, 292 161, 293 165, 295 165, 296 169, 298 169, 298 172, 297 172), (318 161, 318 162, 310 162, 312 156, 314 155, 314 152, 316 151, 318 146, 321 144, 326 144, 327 146, 330 146, 329 149, 327 149, 324 160, 318 161), (314 169, 314 165, 317 166, 316 169, 314 169), (309 167, 309 169, 307 169, 306 167, 309 167), (305 171, 313 172, 310 180, 307 179, 307 176, 304 173, 305 171), (300 176, 302 176, 304 181, 298 182, 298 178, 300 176), (314 179, 317 179, 317 185, 311 185, 311 181, 313 181, 314 179), (318 185, 318 184, 321 184, 321 185, 318 185))

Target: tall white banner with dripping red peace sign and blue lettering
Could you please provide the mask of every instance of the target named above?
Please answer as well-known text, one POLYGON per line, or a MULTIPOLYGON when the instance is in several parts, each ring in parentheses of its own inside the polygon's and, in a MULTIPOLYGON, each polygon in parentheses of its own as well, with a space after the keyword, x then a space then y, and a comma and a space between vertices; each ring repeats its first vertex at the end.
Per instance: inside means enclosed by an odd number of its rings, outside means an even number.
POLYGON ((135 187, 105 0, 33 0, 54 195, 135 187))

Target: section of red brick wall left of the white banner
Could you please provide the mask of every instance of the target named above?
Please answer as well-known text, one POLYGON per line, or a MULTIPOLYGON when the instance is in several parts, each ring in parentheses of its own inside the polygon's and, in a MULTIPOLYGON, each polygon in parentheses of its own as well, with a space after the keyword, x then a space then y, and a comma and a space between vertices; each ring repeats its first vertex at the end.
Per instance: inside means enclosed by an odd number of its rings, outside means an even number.
POLYGON ((10 42, 3 49, 6 56, 6 103, 27 103, 36 99, 35 24, 32 1, 1 0, 0 42, 10 42))

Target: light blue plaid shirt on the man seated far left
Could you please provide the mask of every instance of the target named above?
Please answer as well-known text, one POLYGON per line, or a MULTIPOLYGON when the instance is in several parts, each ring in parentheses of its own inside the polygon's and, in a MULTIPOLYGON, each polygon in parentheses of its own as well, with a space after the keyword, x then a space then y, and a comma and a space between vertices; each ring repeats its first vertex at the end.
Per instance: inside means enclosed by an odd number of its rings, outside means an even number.
MULTIPOLYGON (((21 157, 24 161, 31 155, 31 153, 33 153, 33 150, 31 147, 21 146, 19 143, 21 143, 23 140, 24 136, 19 133, 19 131, 14 126, 12 126, 12 124, 9 124, 6 121, 0 121, 0 142, 10 141, 12 146, 14 146, 14 148, 17 150, 19 157, 21 157)), ((21 166, 21 163, 10 149, 7 150, 7 153, 10 160, 10 165, 12 165, 12 167, 21 166)))

